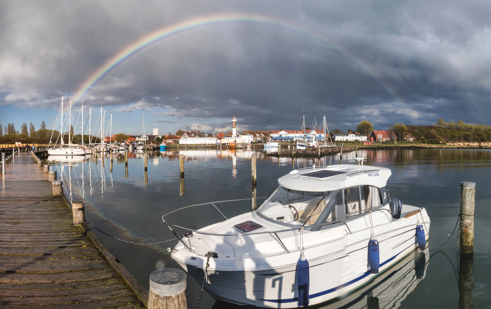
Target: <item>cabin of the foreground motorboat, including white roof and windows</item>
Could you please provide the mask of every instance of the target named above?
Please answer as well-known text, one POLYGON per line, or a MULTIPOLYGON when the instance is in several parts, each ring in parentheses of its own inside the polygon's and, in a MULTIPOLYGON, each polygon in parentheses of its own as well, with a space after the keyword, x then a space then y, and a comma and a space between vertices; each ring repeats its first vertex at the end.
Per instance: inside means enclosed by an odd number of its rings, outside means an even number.
POLYGON ((279 186, 256 213, 275 224, 319 231, 335 223, 389 204, 387 168, 331 165, 294 170, 278 179, 279 186))

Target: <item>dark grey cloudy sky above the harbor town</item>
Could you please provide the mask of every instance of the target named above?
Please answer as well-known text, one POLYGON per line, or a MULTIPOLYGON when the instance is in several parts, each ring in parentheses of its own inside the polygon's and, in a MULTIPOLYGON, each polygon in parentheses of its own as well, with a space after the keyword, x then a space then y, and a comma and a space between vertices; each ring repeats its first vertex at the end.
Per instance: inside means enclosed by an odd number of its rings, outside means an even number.
POLYGON ((84 122, 92 107, 94 127, 102 105, 112 132, 128 134, 142 132, 143 113, 146 133, 161 134, 227 131, 234 115, 239 130, 300 129, 303 109, 329 129, 491 124, 490 0, 0 0, 0 123, 53 128, 61 96, 75 98, 118 52, 216 15, 243 18, 197 23, 126 58, 84 93, 84 122))

